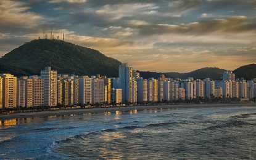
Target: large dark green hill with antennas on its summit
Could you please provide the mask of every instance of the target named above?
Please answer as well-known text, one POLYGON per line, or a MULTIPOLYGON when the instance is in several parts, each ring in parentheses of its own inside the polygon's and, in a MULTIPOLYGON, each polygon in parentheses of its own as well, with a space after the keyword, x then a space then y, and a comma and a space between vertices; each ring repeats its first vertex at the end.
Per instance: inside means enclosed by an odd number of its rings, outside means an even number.
POLYGON ((98 50, 60 40, 38 39, 27 42, 0 58, 0 72, 15 76, 39 74, 45 66, 58 73, 117 76, 118 60, 98 50))

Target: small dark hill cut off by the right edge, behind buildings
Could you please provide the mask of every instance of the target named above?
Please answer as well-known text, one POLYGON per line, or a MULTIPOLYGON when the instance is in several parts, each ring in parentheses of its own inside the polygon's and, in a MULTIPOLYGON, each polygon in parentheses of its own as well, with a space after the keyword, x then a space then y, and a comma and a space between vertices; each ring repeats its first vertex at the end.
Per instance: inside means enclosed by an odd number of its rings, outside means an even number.
POLYGON ((244 78, 247 80, 256 78, 256 64, 240 66, 234 70, 234 74, 236 74, 236 78, 244 78))

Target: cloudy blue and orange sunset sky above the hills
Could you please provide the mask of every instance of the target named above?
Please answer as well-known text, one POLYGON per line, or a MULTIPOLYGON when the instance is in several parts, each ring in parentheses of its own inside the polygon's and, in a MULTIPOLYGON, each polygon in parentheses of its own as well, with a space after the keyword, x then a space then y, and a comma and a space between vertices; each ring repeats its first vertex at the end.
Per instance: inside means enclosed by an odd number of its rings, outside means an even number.
POLYGON ((135 70, 256 63, 256 0, 0 1, 0 55, 50 28, 135 70))

